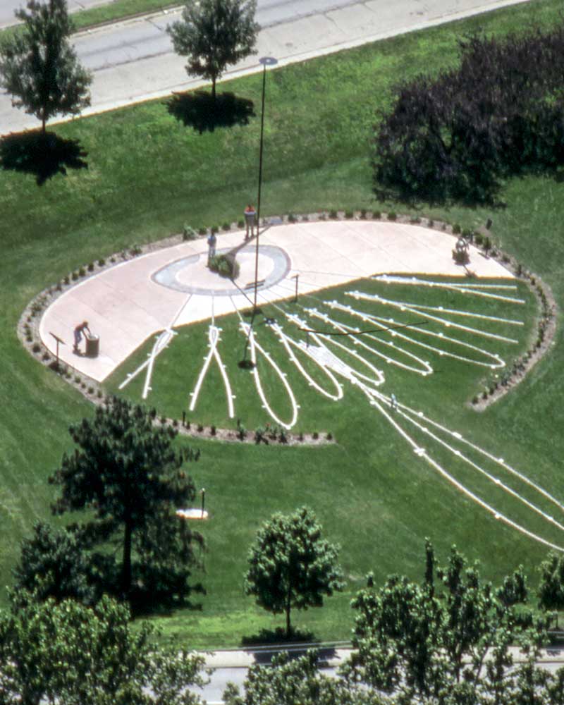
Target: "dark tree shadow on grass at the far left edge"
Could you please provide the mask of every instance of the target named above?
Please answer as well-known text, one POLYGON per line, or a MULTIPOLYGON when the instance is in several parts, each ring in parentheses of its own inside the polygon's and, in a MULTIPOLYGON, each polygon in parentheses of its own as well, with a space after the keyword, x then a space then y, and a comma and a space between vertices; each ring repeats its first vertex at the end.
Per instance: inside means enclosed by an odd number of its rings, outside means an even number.
POLYGON ((38 186, 56 174, 66 175, 67 169, 88 168, 84 157, 80 140, 63 140, 55 133, 13 133, 0 140, 2 168, 34 174, 38 186))

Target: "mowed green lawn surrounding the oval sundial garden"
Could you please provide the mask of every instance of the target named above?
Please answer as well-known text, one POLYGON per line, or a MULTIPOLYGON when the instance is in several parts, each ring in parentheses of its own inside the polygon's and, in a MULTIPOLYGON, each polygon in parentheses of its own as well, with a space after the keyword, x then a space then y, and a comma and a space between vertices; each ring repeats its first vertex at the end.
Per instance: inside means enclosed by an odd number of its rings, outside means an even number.
MULTIPOLYGON (((505 206, 497 209, 418 204, 409 211, 401 204, 372 200, 369 166, 376 111, 391 104, 398 80, 416 75, 422 66, 439 71, 452 65, 457 37, 472 29, 508 32, 535 22, 555 23, 559 8, 552 0, 529 2, 269 73, 264 214, 381 208, 468 228, 491 217, 496 243, 544 278, 561 306, 562 179, 515 179, 501 194, 505 206)), ((258 76, 225 86, 251 99, 256 110, 260 88, 258 76)), ((16 337, 23 308, 69 271, 111 252, 178 232, 183 223, 200 227, 238 220, 256 191, 257 116, 248 125, 200 135, 178 123, 158 101, 61 125, 56 132, 80 140, 87 169, 68 168, 66 176, 55 176, 41 187, 30 173, 0 172, 2 585, 11 582, 20 539, 35 520, 49 519, 54 489, 47 477, 62 453, 72 448, 68 425, 92 414, 78 393, 24 352, 16 337)), ((562 345, 559 328, 550 354, 485 412, 465 405, 472 387, 479 389, 476 378, 464 378, 460 395, 440 382, 440 393, 426 393, 429 413, 448 415, 450 427, 503 455, 559 498, 564 497, 562 345)), ((407 401, 411 387, 405 379, 401 398, 407 401)), ((320 423, 320 431, 336 436, 331 446, 191 441, 202 448, 202 458, 191 470, 197 486, 207 489, 213 517, 204 529, 206 572, 197 576, 207 595, 201 611, 159 618, 166 635, 194 646, 237 644, 280 623, 243 596, 245 556, 262 520, 302 503, 314 508, 327 537, 341 543, 347 577, 345 592, 329 599, 323 610, 296 615, 298 627, 319 637, 348 636, 348 603, 368 570, 374 570, 376 580, 389 572, 420 575, 426 536, 441 556, 457 544, 469 558, 481 560, 492 579, 522 563, 532 584, 536 582, 535 567, 546 554, 542 546, 462 498, 422 465, 388 424, 366 415, 359 391, 346 394, 324 429, 320 423)), ((556 537, 551 534, 551 539, 556 537)))

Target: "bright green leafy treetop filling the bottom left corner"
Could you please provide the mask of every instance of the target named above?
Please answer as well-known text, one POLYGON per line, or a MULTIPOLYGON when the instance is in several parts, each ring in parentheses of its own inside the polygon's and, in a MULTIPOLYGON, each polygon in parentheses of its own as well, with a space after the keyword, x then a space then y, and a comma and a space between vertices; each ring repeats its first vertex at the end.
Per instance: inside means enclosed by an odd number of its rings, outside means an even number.
POLYGON ((195 705, 203 659, 150 645, 128 609, 109 597, 94 608, 73 600, 25 601, 0 613, 3 705, 195 705))

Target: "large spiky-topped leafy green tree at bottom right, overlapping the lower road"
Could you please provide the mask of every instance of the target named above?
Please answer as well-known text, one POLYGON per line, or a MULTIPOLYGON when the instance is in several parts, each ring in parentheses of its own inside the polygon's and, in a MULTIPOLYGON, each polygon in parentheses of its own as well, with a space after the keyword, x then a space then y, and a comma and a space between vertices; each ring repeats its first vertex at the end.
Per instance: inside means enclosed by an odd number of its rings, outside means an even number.
POLYGON ((546 623, 524 606, 522 569, 494 589, 456 548, 443 568, 429 542, 426 551, 421 583, 393 575, 376 589, 369 577, 357 594, 350 679, 405 703, 517 701, 508 696, 520 692, 519 679, 539 675, 534 660, 546 637, 546 623), (512 644, 527 654, 514 670, 512 644))

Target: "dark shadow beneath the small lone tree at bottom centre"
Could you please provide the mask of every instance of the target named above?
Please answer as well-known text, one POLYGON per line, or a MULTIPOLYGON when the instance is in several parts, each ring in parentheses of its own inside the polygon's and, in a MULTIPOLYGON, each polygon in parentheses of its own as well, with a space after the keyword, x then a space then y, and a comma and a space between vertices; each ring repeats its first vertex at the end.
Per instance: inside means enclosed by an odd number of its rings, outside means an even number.
POLYGON ((318 648, 313 632, 292 630, 290 635, 283 629, 262 629, 258 634, 241 639, 241 646, 254 656, 256 663, 271 663, 272 658, 281 651, 288 651, 290 658, 303 656, 308 649, 317 649, 319 663, 333 658, 336 650, 333 646, 318 648))

